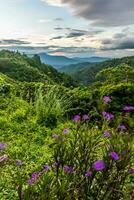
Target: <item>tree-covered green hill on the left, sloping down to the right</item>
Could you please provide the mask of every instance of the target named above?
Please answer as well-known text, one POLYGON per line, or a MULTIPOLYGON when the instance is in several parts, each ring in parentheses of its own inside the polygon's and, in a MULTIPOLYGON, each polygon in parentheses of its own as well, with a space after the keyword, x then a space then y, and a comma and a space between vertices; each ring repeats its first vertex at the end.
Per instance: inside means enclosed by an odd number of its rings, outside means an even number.
POLYGON ((18 81, 60 83, 65 86, 76 84, 70 76, 42 64, 38 55, 29 58, 18 52, 3 50, 0 52, 0 72, 18 81))

